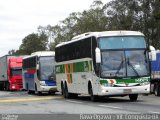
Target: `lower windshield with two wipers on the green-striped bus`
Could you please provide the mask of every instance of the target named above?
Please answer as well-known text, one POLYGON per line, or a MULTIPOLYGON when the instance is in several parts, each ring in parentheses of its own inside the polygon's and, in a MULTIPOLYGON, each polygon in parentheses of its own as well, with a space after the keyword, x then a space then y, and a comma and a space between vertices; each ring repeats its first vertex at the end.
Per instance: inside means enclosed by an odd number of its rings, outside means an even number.
POLYGON ((149 75, 145 50, 102 51, 102 77, 140 77, 149 75))

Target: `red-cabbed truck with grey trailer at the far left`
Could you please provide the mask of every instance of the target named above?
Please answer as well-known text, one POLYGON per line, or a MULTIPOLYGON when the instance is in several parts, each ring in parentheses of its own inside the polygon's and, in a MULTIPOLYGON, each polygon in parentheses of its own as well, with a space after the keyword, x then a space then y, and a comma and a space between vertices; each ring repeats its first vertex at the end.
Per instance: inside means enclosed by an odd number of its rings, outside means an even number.
POLYGON ((22 88, 22 56, 0 57, 0 89, 13 91, 22 88))

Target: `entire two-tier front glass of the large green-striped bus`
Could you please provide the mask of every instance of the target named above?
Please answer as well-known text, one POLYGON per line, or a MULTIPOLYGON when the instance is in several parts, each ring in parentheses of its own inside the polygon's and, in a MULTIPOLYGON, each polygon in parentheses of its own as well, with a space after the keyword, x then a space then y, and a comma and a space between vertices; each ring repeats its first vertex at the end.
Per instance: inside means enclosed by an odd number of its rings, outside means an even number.
POLYGON ((142 77, 149 75, 148 55, 143 36, 99 38, 102 77, 142 77))

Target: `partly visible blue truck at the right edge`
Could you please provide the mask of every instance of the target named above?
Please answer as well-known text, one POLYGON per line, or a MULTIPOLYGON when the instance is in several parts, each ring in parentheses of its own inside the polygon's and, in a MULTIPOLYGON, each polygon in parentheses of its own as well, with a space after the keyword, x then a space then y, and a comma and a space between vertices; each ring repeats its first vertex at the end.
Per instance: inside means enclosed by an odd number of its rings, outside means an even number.
POLYGON ((151 93, 160 96, 160 51, 155 50, 156 59, 151 60, 151 93))

